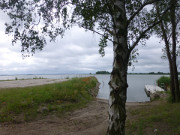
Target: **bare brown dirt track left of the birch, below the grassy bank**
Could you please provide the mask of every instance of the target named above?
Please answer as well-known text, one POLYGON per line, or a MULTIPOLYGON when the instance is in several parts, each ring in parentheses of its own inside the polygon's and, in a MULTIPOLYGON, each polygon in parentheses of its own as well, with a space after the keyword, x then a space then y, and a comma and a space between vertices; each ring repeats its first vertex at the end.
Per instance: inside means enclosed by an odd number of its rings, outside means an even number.
POLYGON ((63 118, 51 115, 28 123, 0 125, 0 135, 104 135, 107 107, 107 102, 96 100, 63 118))

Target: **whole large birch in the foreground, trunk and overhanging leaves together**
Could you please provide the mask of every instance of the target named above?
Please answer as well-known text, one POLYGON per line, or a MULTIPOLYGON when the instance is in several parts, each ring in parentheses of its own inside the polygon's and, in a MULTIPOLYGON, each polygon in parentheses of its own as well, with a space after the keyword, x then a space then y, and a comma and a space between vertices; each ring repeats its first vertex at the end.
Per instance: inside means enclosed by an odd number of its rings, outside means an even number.
MULTIPOLYGON (((114 51, 109 97, 108 135, 125 135, 127 70, 160 21, 152 14, 157 0, 0 0, 12 19, 6 33, 21 42, 22 52, 42 50, 47 37, 53 41, 74 25, 101 36, 99 52, 107 41, 114 51), (148 8, 147 8, 148 7, 148 8)), ((161 13, 160 16, 163 16, 161 13)))

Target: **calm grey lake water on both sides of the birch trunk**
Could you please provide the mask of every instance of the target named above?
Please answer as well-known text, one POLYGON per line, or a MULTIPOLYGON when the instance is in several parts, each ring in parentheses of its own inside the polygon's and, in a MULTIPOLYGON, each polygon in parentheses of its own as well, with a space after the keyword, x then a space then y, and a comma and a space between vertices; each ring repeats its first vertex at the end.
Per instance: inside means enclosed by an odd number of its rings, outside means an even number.
MULTIPOLYGON (((109 85, 110 75, 16 75, 16 76, 0 76, 0 80, 11 80, 15 79, 31 79, 34 77, 43 77, 50 79, 64 79, 73 77, 87 77, 95 76, 100 82, 100 89, 97 95, 98 98, 108 99, 109 98, 109 85)), ((127 90, 127 101, 128 102, 145 102, 149 101, 149 97, 146 96, 144 86, 146 84, 155 85, 156 80, 162 75, 128 75, 128 90, 127 90)))

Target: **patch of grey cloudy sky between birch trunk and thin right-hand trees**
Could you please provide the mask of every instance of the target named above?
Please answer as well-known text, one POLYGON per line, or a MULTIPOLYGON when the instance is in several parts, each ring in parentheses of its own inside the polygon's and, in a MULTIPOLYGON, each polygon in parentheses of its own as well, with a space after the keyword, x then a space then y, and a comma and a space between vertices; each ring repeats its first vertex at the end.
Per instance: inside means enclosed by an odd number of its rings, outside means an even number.
POLYGON ((159 41, 157 37, 152 36, 146 42, 146 46, 138 46, 138 62, 134 63, 134 71, 132 71, 132 68, 129 68, 130 72, 169 72, 168 61, 161 58, 164 45, 159 43, 159 41))

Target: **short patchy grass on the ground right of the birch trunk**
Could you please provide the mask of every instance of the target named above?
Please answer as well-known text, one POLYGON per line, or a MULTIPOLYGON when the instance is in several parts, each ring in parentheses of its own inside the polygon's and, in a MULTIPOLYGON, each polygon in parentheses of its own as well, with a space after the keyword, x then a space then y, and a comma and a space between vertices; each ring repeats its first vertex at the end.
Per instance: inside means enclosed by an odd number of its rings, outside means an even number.
POLYGON ((180 103, 159 101, 128 110, 127 135, 180 135, 180 103))

